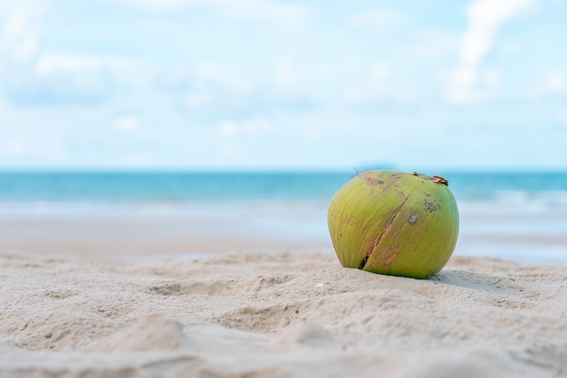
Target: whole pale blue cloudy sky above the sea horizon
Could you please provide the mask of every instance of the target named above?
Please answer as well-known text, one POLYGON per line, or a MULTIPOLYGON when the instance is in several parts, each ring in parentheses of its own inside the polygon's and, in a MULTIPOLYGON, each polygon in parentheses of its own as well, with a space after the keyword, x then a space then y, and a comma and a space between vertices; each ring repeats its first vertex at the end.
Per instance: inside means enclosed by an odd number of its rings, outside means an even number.
POLYGON ((0 170, 567 170, 563 0, 0 0, 0 170))

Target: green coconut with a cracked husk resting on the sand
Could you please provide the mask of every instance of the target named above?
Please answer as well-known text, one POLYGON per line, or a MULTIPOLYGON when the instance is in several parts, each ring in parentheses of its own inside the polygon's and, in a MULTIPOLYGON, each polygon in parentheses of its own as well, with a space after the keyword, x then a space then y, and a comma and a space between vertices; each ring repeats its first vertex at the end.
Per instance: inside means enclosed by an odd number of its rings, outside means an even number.
POLYGON ((456 200, 446 179, 370 170, 331 200, 332 245, 343 267, 391 276, 427 278, 453 254, 456 200))

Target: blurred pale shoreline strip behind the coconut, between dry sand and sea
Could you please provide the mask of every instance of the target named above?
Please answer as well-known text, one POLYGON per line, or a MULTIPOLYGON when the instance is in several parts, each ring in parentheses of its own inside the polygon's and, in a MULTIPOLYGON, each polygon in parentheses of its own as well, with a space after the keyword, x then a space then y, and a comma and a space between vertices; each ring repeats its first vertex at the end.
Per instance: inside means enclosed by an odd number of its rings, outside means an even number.
MULTIPOLYGON (((324 214, 310 218, 14 218, 0 219, 0 251, 92 257, 190 257, 223 252, 321 251, 334 255, 324 214), (321 218, 321 219, 320 219, 321 218)), ((517 220, 519 222, 522 220, 517 220)), ((526 217, 524 224, 529 224, 526 217)), ((567 262, 567 237, 543 226, 532 231, 477 227, 462 217, 454 256, 498 257, 522 263, 567 262), (508 230, 508 231, 506 231, 508 230)), ((495 221, 495 223, 497 223, 495 221)))

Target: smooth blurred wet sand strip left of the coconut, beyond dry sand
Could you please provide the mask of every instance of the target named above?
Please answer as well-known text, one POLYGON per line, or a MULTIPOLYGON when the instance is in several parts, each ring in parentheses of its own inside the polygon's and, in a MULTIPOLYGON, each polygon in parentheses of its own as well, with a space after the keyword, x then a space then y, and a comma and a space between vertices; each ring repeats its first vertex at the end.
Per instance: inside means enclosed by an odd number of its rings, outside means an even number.
MULTIPOLYGON (((265 235, 250 226, 234 226, 230 220, 0 218, 0 252, 18 250, 42 255, 91 257, 178 256, 235 250, 332 252, 324 223, 322 237, 301 238, 281 235, 281 232, 265 235)), ((300 223, 298 228, 304 226, 300 223)))

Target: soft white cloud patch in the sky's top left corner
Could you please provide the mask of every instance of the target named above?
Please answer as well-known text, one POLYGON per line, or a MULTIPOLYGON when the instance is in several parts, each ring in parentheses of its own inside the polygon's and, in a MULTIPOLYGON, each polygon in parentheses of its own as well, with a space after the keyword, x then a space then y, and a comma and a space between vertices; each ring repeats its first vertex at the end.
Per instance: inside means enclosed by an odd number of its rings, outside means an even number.
POLYGON ((48 5, 38 0, 7 7, 0 29, 2 94, 28 104, 100 101, 108 92, 110 71, 126 72, 124 64, 97 56, 43 53, 41 29, 48 5))

